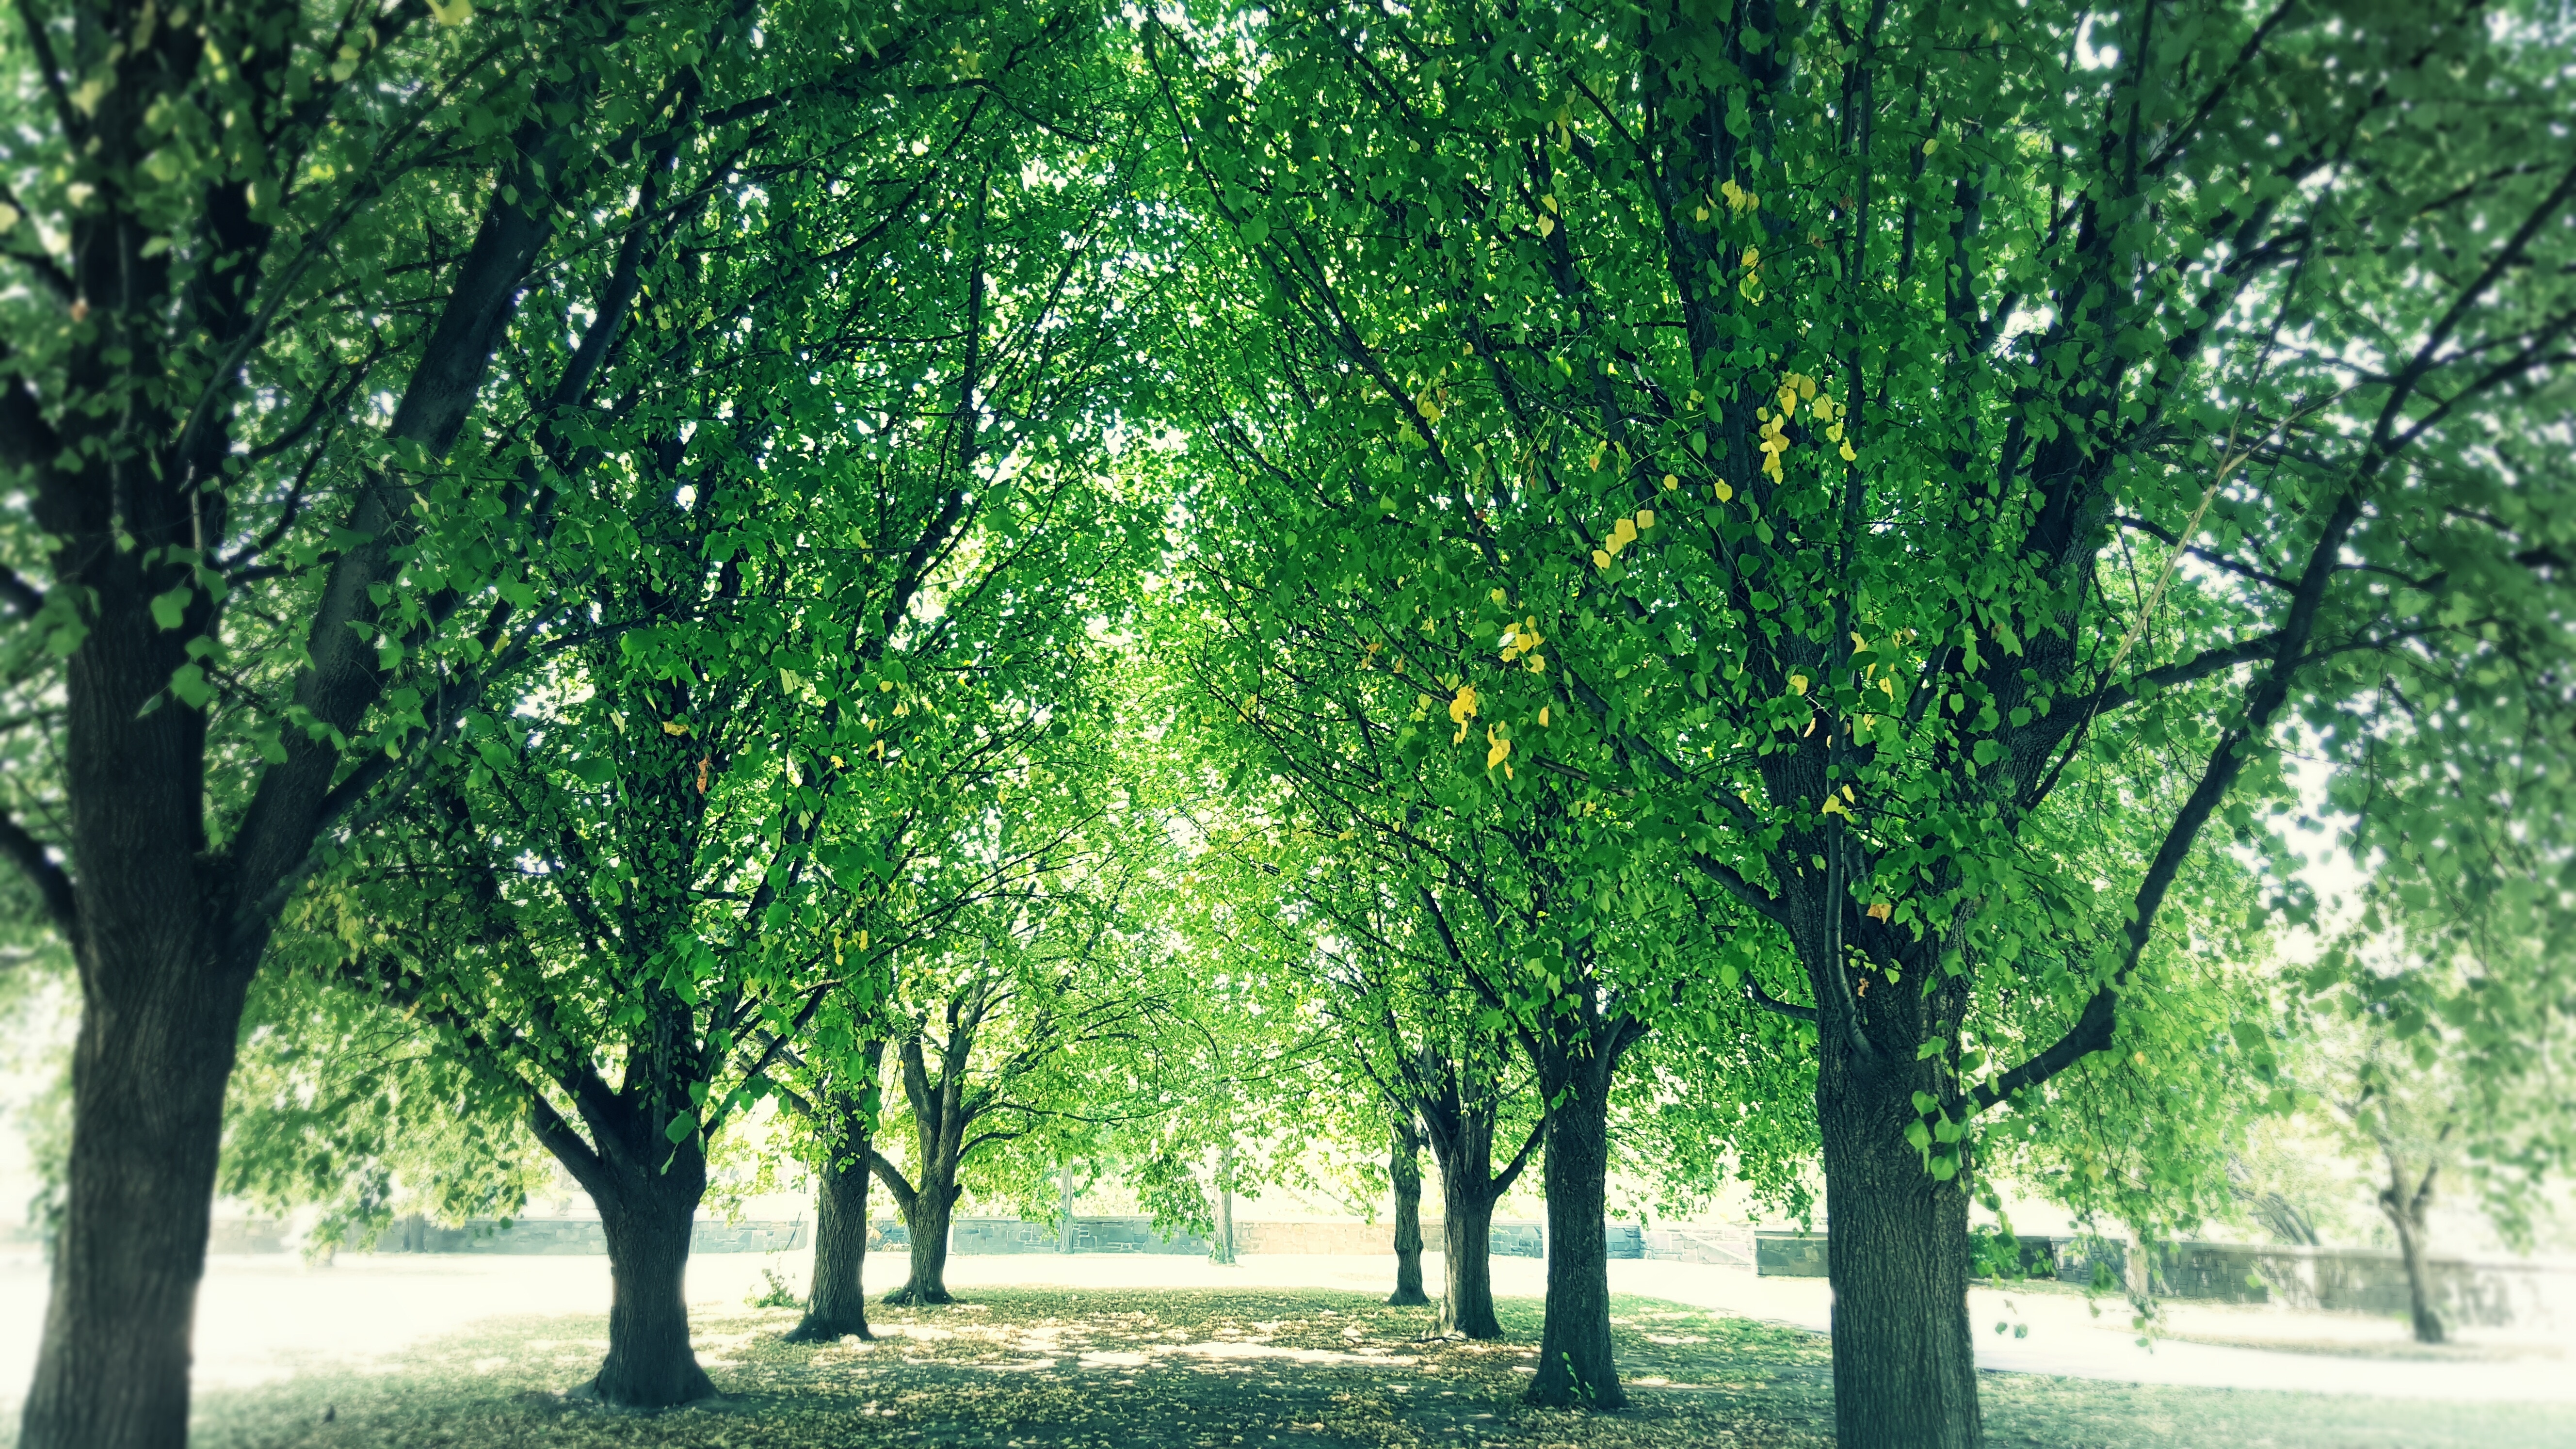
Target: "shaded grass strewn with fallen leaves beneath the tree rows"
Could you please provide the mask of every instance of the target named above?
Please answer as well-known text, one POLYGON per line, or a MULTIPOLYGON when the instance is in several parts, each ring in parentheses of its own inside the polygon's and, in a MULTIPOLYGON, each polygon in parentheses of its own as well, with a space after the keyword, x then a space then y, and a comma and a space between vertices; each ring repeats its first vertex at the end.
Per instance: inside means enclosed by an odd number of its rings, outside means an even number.
MULTIPOLYGON (((1427 1310, 1340 1292, 992 1289, 881 1307, 876 1343, 788 1346, 793 1310, 698 1320, 726 1395, 670 1413, 567 1400, 598 1318, 513 1318, 353 1369, 309 1364, 198 1400, 198 1449, 889 1446, 889 1449, 1677 1449, 1824 1446, 1821 1336, 1618 1297, 1618 1415, 1520 1405, 1538 1305, 1502 1343, 1427 1341, 1427 1310)), ((1986 1374, 1989 1439, 2048 1449, 2519 1449, 2566 1444, 2563 1405, 2429 1405, 1986 1374)))

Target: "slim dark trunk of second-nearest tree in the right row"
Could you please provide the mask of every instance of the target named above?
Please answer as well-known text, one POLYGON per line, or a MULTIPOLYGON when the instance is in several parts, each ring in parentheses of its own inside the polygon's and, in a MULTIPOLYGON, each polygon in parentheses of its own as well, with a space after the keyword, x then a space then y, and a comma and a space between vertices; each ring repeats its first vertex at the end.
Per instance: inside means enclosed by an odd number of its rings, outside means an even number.
MULTIPOLYGON (((1587 1067, 1571 1091, 1553 1083, 1548 1091, 1548 1323, 1538 1336, 1538 1377, 1528 1395, 1543 1408, 1628 1403, 1610 1351, 1610 1240, 1602 1227, 1610 1209, 1610 1070, 1587 1067)), ((1450 1232, 1458 1227, 1450 1225, 1450 1232)))

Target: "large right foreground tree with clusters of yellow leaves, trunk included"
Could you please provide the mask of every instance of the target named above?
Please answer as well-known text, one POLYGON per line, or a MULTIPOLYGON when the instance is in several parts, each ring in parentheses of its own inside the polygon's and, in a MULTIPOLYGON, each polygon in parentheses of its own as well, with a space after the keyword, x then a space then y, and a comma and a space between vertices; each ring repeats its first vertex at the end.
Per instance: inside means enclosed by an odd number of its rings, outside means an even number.
POLYGON ((2154 1057, 2164 913, 2213 822, 2287 804, 2277 730, 2566 660, 2568 477, 2519 438, 2576 327, 2576 139, 2563 18, 2514 15, 1159 31, 1242 315, 1332 358, 1309 425, 1352 438, 1273 572, 1473 632, 1499 660, 1443 688, 1499 763, 1625 802, 1806 977, 1850 1441, 1981 1439, 1978 1116, 2154 1057), (2455 113, 2524 160, 2463 162, 2455 113), (2032 848, 2084 830, 2141 866, 2032 848))

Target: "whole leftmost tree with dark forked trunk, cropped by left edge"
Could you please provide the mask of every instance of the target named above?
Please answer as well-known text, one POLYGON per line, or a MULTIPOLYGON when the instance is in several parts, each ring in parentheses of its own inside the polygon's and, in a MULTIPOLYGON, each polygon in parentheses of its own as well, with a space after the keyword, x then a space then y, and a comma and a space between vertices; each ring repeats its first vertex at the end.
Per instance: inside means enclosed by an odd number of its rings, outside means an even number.
POLYGON ((278 910, 562 624, 526 567, 641 253, 943 18, 866 54, 688 3, 21 18, 5 593, 62 773, 0 841, 85 998, 21 1441, 165 1446, 278 910))

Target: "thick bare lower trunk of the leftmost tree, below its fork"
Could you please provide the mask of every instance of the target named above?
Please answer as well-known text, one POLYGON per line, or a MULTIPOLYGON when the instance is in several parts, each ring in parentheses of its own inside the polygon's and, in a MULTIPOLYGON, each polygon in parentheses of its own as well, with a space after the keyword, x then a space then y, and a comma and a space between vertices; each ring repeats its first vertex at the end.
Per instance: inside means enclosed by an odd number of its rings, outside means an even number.
MULTIPOLYGON (((93 879, 111 877, 98 871, 93 879)), ((108 910, 88 905, 93 941, 108 910)), ((185 905, 116 920, 82 972, 72 1055, 72 1155, 44 1348, 23 1449, 170 1449, 188 1441, 188 1338, 206 1271, 206 1214, 247 975, 191 959, 185 905)))

